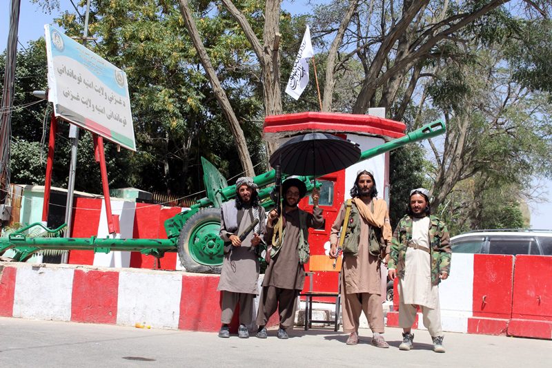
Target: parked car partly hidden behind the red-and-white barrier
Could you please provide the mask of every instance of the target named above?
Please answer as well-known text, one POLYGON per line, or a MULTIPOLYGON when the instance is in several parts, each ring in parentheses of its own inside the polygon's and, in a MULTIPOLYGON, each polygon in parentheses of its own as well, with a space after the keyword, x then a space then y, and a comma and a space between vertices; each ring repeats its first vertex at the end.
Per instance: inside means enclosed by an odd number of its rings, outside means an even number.
POLYGON ((451 238, 453 253, 552 255, 551 230, 477 230, 451 238))

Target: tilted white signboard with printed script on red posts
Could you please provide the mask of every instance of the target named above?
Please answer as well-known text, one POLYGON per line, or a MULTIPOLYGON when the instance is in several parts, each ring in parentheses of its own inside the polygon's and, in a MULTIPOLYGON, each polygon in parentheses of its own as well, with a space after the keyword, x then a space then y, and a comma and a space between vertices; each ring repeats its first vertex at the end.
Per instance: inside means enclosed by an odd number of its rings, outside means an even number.
POLYGON ((136 151, 126 73, 60 30, 44 29, 55 115, 136 151))

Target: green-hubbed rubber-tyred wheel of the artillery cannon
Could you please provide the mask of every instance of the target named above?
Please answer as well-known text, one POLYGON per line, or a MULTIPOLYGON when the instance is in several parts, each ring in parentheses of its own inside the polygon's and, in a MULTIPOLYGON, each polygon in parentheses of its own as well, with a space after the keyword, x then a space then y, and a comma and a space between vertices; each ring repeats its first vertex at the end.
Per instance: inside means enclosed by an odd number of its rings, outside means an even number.
POLYGON ((178 238, 178 256, 186 271, 220 273, 224 242, 219 230, 220 209, 201 209, 184 223, 178 238))

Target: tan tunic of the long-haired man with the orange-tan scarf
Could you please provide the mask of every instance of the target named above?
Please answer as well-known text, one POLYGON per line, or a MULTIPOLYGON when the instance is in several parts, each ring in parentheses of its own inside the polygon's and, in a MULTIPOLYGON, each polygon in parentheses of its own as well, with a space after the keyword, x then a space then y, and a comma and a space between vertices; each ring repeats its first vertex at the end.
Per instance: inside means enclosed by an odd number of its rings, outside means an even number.
MULTIPOLYGON (((383 201, 381 199, 375 199, 383 201)), ((339 214, 332 226, 330 235, 331 244, 338 244, 338 238, 343 220, 345 217, 345 203, 339 209, 339 214)), ((368 232, 370 226, 360 216, 360 240, 358 244, 358 255, 343 253, 342 284, 347 293, 371 293, 382 294, 382 277, 380 274, 380 260, 371 255, 368 246, 368 232)))

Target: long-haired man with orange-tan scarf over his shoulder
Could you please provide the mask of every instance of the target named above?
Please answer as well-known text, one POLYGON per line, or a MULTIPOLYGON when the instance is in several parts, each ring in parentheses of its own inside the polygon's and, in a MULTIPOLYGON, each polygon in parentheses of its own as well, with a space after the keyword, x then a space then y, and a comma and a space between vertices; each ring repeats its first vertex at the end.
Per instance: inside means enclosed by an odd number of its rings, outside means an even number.
POLYGON ((364 311, 375 347, 389 347, 384 333, 380 265, 391 244, 391 224, 385 200, 377 198, 374 175, 360 170, 332 226, 330 257, 343 250, 342 311, 347 345, 357 345, 360 313, 364 311), (342 230, 340 230, 342 229, 342 230), (341 234, 341 235, 339 235, 341 234))

